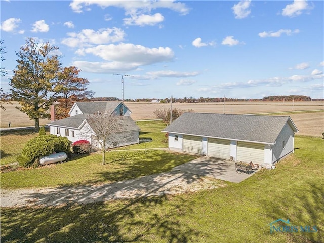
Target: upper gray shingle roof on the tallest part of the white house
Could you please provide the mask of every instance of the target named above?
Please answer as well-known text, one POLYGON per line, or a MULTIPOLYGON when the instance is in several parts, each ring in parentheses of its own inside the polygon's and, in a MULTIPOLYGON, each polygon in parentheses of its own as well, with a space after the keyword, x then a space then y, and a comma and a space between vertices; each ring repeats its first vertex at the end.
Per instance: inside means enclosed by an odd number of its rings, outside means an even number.
MULTIPOLYGON (((110 112, 114 111, 121 102, 120 101, 105 101, 105 102, 75 102, 75 103, 79 107, 79 109, 82 113, 94 114, 98 111, 100 113, 110 113, 110 112)), ((124 106, 125 106, 125 104, 124 104, 124 106)))

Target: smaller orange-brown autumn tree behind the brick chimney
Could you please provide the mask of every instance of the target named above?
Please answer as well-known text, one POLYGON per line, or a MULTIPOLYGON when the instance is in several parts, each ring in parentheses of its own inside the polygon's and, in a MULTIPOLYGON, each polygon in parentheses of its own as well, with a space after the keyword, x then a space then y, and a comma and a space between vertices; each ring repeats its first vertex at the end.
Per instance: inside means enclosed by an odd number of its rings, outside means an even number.
POLYGON ((81 70, 77 67, 65 67, 58 74, 58 82, 61 93, 56 99, 56 118, 68 117, 68 112, 76 101, 87 101, 92 98, 94 92, 88 90, 89 80, 79 77, 81 70))

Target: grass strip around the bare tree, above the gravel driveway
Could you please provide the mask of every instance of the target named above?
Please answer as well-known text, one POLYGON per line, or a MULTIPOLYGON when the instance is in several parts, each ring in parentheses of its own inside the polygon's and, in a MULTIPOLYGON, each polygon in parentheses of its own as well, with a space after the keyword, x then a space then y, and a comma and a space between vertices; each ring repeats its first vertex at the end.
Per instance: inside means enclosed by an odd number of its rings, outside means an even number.
POLYGON ((106 164, 102 165, 101 154, 97 153, 63 164, 3 173, 1 188, 112 183, 170 171, 194 158, 161 150, 112 151, 106 153, 106 164))

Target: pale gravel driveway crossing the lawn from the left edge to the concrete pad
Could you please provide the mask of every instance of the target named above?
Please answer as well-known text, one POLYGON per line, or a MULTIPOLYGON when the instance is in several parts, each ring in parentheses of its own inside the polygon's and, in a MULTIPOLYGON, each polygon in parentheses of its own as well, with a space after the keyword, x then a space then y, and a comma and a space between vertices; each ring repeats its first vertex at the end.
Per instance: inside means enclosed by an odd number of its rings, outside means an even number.
POLYGON ((179 194, 225 186, 214 178, 173 169, 111 184, 38 189, 1 189, 2 207, 58 206, 87 204, 113 199, 128 199, 163 194, 179 194))

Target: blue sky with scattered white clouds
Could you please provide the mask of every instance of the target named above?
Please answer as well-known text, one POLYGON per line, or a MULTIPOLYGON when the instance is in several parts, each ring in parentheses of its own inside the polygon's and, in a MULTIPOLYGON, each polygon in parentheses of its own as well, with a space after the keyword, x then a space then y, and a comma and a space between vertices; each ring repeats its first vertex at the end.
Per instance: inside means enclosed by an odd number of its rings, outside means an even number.
POLYGON ((323 1, 1 1, 8 91, 27 37, 95 97, 324 98, 323 1))

